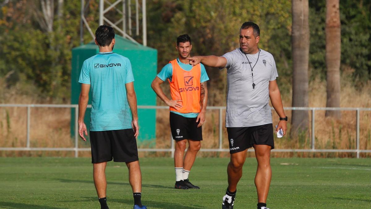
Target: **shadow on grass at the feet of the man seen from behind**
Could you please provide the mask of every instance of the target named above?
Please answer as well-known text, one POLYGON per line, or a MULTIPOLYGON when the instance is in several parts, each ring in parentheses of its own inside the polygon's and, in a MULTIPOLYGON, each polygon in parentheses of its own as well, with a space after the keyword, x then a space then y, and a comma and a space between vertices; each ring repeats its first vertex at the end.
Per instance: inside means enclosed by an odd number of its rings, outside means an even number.
MULTIPOLYGON (((111 202, 116 202, 116 203, 124 203, 124 204, 133 204, 133 200, 130 199, 130 200, 126 200, 126 199, 109 199, 108 201, 111 201, 111 202)), ((160 200, 161 201, 161 200, 160 200)), ((108 202, 107 202, 108 204, 108 202)), ((176 204, 176 203, 169 203, 169 202, 156 202, 156 201, 152 201, 152 200, 145 200, 142 202, 143 205, 147 206, 148 208, 164 208, 164 209, 168 209, 168 208, 193 208, 193 209, 204 209, 206 207, 203 207, 203 206, 199 206, 199 205, 194 205, 194 204, 189 204, 187 206, 184 206, 184 205, 179 205, 179 204, 176 204)))

